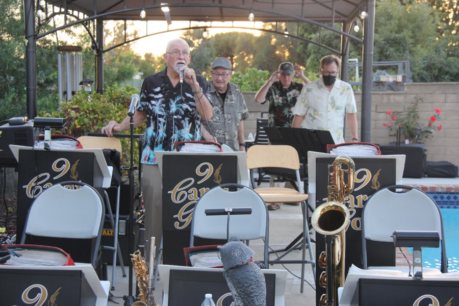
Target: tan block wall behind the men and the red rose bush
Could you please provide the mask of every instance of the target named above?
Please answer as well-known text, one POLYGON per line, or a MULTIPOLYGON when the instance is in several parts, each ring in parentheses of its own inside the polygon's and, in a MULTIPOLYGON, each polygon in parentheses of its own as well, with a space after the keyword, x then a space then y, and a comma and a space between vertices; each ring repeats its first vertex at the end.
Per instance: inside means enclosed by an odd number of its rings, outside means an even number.
MULTIPOLYGON (((255 133, 255 119, 261 117, 261 112, 268 110, 267 105, 260 105, 254 101, 254 92, 244 93, 244 98, 250 112, 250 117, 244 122, 245 135, 255 133)), ((395 136, 389 136, 389 130, 382 123, 388 122, 386 112, 404 111, 414 97, 419 95, 423 102, 419 104, 419 116, 426 122, 433 115, 435 109, 442 111, 438 121, 442 130, 434 132, 433 137, 427 139, 428 161, 449 161, 459 165, 459 83, 410 83, 405 84, 403 92, 373 92, 371 97, 371 142, 388 145, 395 141, 395 136)), ((355 93, 357 101, 359 135, 361 126, 361 99, 360 92, 355 93)), ((265 115, 266 117, 266 115, 265 115)), ((346 141, 350 140, 350 133, 346 131, 346 141)))

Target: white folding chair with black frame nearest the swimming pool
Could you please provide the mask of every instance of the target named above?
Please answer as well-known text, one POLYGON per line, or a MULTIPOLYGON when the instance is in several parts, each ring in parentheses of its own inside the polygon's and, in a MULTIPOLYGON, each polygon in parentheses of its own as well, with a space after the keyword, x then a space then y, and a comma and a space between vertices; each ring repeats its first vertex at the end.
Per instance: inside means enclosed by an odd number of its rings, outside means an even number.
POLYGON ((411 186, 393 185, 376 191, 368 198, 362 211, 364 269, 369 266, 395 266, 392 237, 395 231, 438 232, 441 240, 440 270, 447 272, 442 214, 437 203, 428 194, 411 186), (388 251, 378 247, 376 254, 370 257, 369 250, 374 249, 377 244, 385 244, 388 251))

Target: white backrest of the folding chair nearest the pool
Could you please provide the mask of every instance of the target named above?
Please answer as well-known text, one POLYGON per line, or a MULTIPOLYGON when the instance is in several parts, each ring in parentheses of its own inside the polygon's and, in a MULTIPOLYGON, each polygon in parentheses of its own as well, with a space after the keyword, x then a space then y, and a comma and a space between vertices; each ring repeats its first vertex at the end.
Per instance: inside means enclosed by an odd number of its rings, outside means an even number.
POLYGON ((426 193, 411 189, 375 192, 362 211, 365 239, 392 242, 395 231, 437 231, 443 240, 443 221, 437 203, 426 193))

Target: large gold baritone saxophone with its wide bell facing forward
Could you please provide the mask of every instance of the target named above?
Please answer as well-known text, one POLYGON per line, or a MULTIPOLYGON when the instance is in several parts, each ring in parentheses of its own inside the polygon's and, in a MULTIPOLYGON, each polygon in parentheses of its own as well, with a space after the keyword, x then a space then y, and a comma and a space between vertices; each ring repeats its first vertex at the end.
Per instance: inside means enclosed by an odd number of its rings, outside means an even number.
POLYGON ((339 156, 328 165, 328 199, 311 217, 314 230, 325 236, 325 251, 318 259, 319 267, 325 268, 319 284, 326 288, 320 305, 338 305, 338 288, 344 286, 345 229, 350 219, 344 198, 354 189, 354 171, 354 161, 347 156, 339 156), (347 184, 344 182, 345 173, 347 184))

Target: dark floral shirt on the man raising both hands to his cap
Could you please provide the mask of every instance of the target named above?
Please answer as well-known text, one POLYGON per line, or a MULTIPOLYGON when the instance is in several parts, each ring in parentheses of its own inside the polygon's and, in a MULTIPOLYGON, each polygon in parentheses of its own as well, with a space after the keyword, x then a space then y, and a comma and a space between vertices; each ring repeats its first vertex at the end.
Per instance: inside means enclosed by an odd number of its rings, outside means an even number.
MULTIPOLYGON (((284 88, 281 81, 274 82, 268 89, 268 126, 292 127, 293 108, 304 84, 292 81, 284 88)), ((263 103, 264 104, 264 103, 263 103)))

